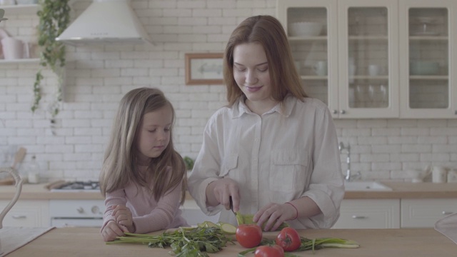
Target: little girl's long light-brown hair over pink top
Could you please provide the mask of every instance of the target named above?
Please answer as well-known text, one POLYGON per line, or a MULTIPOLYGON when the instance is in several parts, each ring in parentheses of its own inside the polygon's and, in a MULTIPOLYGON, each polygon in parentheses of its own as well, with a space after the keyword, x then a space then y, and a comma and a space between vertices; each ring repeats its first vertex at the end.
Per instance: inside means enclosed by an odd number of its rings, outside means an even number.
POLYGON ((103 196, 132 182, 137 187, 150 188, 156 201, 159 201, 166 191, 179 186, 182 181, 181 204, 184 203, 187 188, 186 166, 181 155, 174 149, 173 126, 170 128, 170 141, 164 152, 156 158, 151 158, 151 173, 147 176, 141 175, 136 162, 136 133, 139 131, 143 116, 164 106, 171 108, 175 121, 174 108, 159 89, 133 89, 121 99, 99 178, 103 196), (169 167, 171 174, 167 172, 169 167), (150 179, 153 181, 152 187, 150 179))

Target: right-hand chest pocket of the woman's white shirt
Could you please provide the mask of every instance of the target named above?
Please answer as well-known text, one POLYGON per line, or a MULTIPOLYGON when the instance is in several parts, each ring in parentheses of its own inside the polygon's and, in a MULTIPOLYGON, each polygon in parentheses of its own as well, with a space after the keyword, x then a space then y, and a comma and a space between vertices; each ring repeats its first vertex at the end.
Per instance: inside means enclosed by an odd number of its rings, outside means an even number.
POLYGON ((271 151, 270 188, 288 193, 303 191, 308 177, 308 159, 304 149, 271 151))

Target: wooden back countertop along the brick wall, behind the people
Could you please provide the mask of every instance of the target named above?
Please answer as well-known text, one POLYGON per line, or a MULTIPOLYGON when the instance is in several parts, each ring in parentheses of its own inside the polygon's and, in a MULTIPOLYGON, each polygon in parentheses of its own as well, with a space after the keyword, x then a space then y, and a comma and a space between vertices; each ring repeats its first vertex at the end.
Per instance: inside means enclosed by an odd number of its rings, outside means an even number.
MULTIPOLYGON (((392 191, 346 191, 345 199, 398 199, 398 198, 457 198, 457 183, 407 183, 381 181, 392 191)), ((16 188, 14 186, 0 186, 0 200, 11 199, 16 188)), ((51 192, 45 183, 24 184, 21 200, 51 200, 51 199, 81 199, 103 200, 99 192, 51 192)), ((193 200, 189 195, 187 200, 193 200)))

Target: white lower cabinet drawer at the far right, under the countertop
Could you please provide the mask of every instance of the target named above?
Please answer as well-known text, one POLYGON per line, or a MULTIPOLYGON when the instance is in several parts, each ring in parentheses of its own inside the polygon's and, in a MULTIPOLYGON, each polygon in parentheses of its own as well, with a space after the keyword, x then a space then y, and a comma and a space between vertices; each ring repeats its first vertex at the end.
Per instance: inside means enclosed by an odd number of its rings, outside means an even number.
POLYGON ((402 228, 433 228, 436 221, 457 212, 457 199, 401 200, 402 228))

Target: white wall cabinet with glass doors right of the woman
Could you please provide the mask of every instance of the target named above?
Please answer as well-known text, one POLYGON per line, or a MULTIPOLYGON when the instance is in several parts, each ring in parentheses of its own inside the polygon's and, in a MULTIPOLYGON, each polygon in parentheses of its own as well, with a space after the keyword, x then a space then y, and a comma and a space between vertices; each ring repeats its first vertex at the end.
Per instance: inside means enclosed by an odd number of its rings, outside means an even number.
POLYGON ((280 0, 277 16, 307 94, 326 103, 333 118, 442 119, 457 118, 456 6, 451 0, 280 0), (299 23, 322 29, 296 31, 299 23), (326 69, 319 69, 323 62, 326 69))

